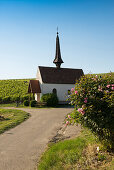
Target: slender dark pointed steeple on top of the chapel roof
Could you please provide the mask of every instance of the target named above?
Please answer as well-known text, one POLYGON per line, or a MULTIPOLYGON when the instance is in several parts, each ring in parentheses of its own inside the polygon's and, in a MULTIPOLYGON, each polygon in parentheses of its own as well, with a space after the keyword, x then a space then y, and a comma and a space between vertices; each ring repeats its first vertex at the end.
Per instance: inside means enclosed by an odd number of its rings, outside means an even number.
POLYGON ((64 63, 61 58, 58 29, 57 29, 57 37, 56 37, 56 53, 55 53, 55 59, 54 59, 53 63, 56 65, 56 68, 60 68, 61 64, 64 63))

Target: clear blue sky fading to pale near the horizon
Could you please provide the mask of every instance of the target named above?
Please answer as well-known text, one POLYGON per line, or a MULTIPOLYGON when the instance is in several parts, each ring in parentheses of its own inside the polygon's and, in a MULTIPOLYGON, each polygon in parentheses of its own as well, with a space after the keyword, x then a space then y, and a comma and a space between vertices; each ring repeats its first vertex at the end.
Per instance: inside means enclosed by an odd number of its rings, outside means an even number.
POLYGON ((0 0, 0 79, 35 78, 55 67, 114 72, 114 0, 0 0))

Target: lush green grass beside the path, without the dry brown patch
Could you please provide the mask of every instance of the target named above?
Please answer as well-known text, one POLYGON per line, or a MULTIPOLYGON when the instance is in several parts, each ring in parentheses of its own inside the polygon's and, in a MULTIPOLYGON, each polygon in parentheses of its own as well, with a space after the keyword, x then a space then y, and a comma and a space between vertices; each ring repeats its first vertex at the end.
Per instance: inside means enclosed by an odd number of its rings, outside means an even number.
POLYGON ((86 135, 82 132, 76 139, 61 141, 50 146, 42 155, 38 170, 63 170, 74 165, 80 159, 87 143, 95 140, 94 136, 89 136, 89 133, 86 135))

